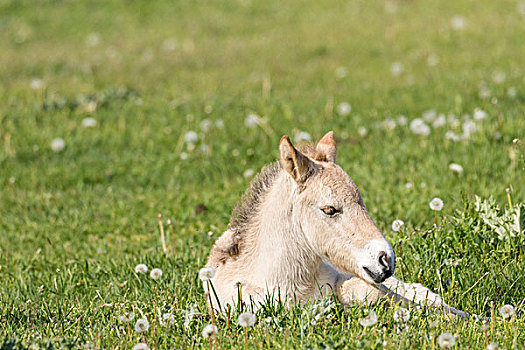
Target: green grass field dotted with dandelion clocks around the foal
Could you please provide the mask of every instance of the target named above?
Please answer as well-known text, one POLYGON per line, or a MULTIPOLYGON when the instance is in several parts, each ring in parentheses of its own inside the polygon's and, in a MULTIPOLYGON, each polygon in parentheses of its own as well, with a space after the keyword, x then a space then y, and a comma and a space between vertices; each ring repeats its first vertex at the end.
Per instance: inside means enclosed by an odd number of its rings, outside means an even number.
MULTIPOLYGON (((503 218, 509 198, 525 217, 524 37, 523 1, 0 0, 2 349, 208 347, 198 270, 252 171, 328 130, 396 275, 488 329, 330 304, 258 312, 249 346, 524 348, 524 226, 503 218)), ((244 346, 232 319, 221 348, 244 346)))

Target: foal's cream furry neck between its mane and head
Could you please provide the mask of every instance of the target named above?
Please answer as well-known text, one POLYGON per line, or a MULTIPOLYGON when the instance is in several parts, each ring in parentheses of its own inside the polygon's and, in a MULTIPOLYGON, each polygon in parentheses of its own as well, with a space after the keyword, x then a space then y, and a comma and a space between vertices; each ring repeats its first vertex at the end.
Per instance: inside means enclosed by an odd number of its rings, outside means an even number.
POLYGON ((287 176, 284 173, 278 176, 268 190, 253 225, 252 271, 267 287, 307 294, 315 286, 320 257, 294 224, 296 185, 287 176))

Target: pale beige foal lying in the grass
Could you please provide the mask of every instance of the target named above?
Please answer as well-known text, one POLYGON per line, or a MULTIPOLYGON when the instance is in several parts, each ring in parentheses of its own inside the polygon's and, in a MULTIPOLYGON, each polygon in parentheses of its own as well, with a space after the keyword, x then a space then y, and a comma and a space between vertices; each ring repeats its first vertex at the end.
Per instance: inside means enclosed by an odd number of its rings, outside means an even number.
POLYGON ((336 164, 332 131, 317 145, 298 148, 284 135, 279 154, 251 181, 211 250, 212 308, 333 293, 344 305, 425 304, 465 316, 423 285, 394 277, 394 250, 336 164))

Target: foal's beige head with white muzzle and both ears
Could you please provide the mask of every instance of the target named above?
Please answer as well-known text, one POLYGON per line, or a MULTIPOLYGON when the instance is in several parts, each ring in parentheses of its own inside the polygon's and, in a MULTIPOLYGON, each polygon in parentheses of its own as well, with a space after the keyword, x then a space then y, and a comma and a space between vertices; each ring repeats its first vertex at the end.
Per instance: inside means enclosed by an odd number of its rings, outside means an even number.
POLYGON ((288 136, 279 145, 281 166, 296 188, 291 215, 311 249, 339 270, 369 282, 392 276, 392 247, 368 214, 361 194, 335 164, 336 144, 327 133, 315 148, 297 150, 288 136))

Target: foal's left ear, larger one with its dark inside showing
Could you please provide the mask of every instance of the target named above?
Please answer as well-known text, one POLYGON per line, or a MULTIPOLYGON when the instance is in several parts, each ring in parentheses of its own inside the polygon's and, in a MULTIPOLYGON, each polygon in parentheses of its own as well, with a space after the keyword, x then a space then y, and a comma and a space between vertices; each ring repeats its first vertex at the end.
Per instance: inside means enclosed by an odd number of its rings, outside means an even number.
POLYGON ((279 143, 279 162, 281 166, 297 183, 303 183, 314 169, 313 162, 299 152, 290 142, 288 135, 284 135, 279 143))

